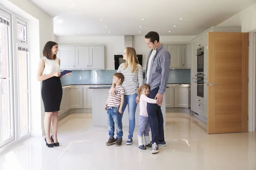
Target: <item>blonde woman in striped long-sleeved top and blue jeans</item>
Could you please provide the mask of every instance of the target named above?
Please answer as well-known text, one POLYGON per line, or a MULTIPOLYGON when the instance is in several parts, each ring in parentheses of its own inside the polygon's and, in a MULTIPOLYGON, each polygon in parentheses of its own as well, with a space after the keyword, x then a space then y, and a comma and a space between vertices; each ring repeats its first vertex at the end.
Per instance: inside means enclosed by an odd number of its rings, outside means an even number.
MULTIPOLYGON (((125 81, 122 83, 122 87, 125 90, 125 100, 122 107, 122 113, 124 113, 125 108, 128 105, 129 135, 126 144, 132 144, 132 137, 135 127, 135 111, 137 108, 137 103, 140 101, 137 91, 138 88, 143 85, 143 70, 139 64, 134 48, 125 48, 123 59, 125 59, 126 62, 119 65, 117 72, 122 73, 125 77, 125 81)), ((114 87, 115 84, 112 85, 112 95, 115 95, 114 87)))

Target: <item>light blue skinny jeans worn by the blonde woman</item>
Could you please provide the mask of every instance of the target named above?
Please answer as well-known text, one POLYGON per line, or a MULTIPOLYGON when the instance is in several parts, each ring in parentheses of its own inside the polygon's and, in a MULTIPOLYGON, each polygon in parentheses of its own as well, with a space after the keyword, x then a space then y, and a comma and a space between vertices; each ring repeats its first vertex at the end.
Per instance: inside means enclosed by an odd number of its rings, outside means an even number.
POLYGON ((129 116, 128 138, 133 137, 134 128, 135 128, 135 112, 137 108, 136 97, 137 97, 137 94, 125 95, 124 105, 122 107, 122 113, 124 113, 125 108, 128 105, 128 116, 129 116))

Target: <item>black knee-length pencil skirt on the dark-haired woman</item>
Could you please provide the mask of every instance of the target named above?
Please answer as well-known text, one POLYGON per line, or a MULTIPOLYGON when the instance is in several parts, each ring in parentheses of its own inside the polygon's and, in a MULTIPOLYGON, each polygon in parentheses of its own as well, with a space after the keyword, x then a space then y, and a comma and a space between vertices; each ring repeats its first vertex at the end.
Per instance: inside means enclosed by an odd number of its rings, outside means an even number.
POLYGON ((59 111, 62 98, 61 79, 54 76, 43 80, 41 96, 44 102, 45 112, 59 111))

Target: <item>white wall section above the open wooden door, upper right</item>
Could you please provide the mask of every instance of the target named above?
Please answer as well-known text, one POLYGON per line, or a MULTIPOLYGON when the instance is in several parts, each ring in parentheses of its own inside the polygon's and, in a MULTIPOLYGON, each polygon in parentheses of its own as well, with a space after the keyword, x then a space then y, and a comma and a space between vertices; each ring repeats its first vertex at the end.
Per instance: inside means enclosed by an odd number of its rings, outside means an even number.
POLYGON ((242 26, 242 32, 250 32, 256 29, 256 3, 240 11, 219 26, 242 26))

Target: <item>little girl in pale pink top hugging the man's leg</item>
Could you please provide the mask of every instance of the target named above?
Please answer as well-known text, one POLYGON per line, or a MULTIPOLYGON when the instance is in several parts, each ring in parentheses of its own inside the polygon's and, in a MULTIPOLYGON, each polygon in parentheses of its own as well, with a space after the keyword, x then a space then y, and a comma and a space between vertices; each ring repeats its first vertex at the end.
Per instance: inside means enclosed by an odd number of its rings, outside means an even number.
POLYGON ((150 86, 147 84, 143 84, 138 89, 138 96, 140 97, 140 114, 139 114, 139 133, 138 133, 138 143, 139 148, 142 150, 147 147, 151 147, 152 144, 149 141, 149 130, 150 124, 147 113, 147 103, 157 103, 156 99, 148 98, 148 94, 150 91, 150 86), (145 145, 143 144, 143 134, 145 138, 145 145))

